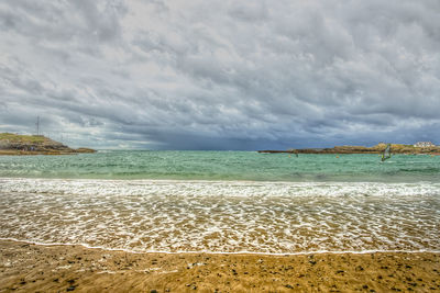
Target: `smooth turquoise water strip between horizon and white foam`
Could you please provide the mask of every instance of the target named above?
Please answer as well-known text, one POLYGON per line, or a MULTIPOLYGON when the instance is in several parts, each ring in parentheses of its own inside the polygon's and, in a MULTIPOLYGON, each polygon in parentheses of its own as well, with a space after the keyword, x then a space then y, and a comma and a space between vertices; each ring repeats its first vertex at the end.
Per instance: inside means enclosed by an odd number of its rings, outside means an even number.
POLYGON ((440 156, 257 154, 255 151, 99 151, 0 156, 0 177, 251 181, 440 182, 440 156))

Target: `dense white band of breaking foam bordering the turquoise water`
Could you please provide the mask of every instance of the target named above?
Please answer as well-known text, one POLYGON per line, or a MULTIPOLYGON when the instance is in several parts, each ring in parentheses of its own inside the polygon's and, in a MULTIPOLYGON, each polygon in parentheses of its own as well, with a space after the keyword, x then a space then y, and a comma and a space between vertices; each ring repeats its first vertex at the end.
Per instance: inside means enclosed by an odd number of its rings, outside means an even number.
POLYGON ((440 183, 260 182, 187 180, 87 180, 0 178, 1 192, 77 195, 184 196, 414 196, 439 194, 440 183))

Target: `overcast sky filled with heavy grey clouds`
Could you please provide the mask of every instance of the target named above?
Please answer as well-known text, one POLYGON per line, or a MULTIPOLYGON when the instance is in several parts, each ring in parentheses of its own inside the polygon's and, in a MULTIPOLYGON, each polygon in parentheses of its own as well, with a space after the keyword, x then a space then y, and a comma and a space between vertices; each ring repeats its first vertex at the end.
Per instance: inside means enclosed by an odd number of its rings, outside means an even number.
POLYGON ((0 2, 0 132, 70 146, 440 144, 439 0, 0 2))

